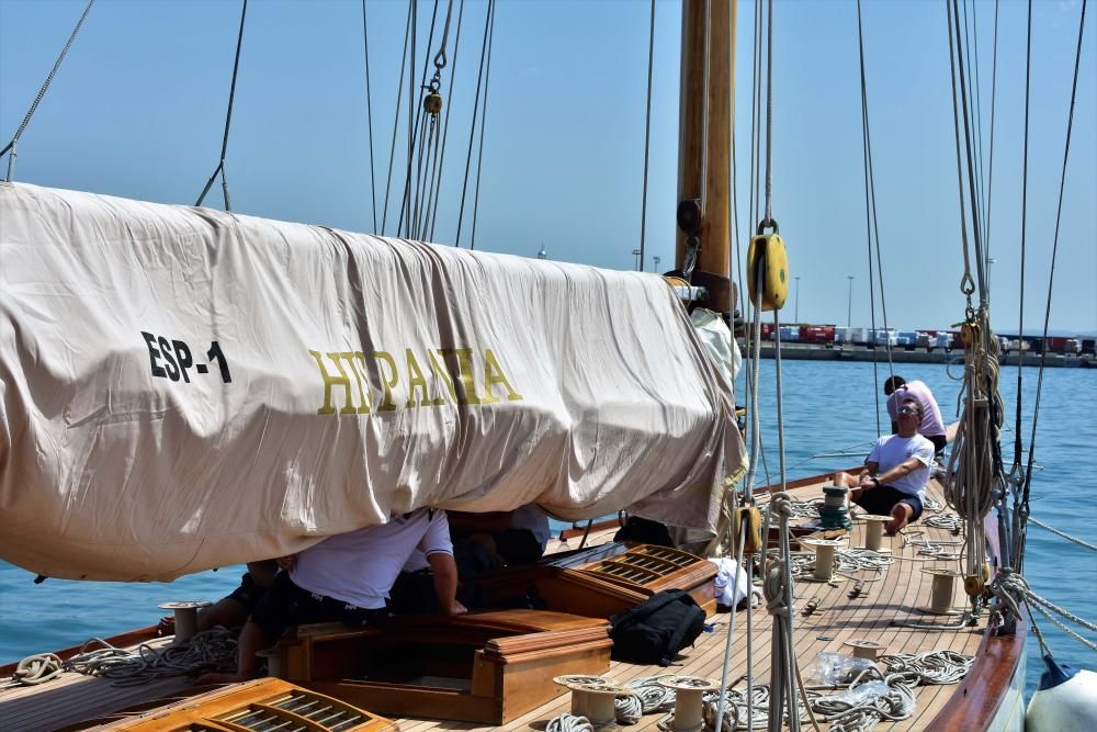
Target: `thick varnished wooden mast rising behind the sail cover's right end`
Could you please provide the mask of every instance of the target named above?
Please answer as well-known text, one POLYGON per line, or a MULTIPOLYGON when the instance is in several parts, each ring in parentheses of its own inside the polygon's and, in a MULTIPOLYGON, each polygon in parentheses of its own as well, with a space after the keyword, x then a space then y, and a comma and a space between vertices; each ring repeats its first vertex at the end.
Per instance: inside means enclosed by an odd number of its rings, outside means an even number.
MULTIPOLYGON (((692 283, 709 291, 708 305, 734 308, 731 261, 731 129, 734 123, 735 0, 683 0, 678 201, 701 202, 692 283), (706 53, 708 52, 708 53, 706 53)), ((681 211, 681 209, 680 209, 681 211)), ((689 233, 676 238, 675 262, 686 266, 689 233)))

